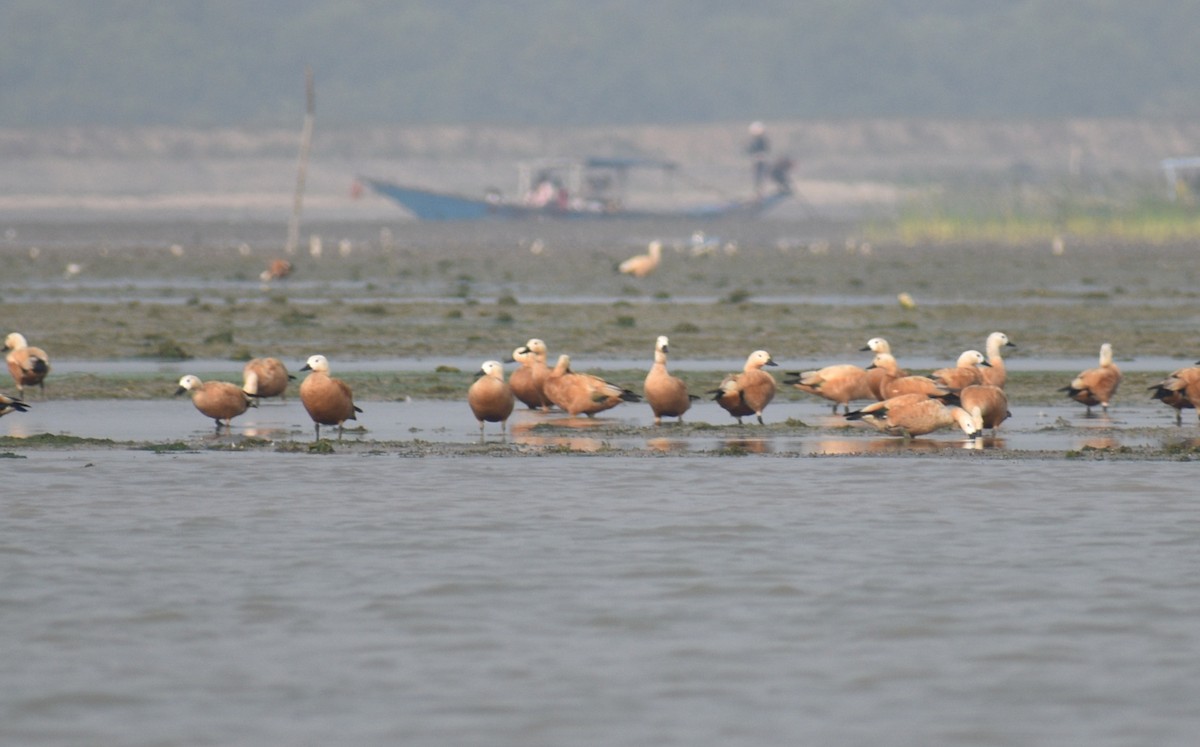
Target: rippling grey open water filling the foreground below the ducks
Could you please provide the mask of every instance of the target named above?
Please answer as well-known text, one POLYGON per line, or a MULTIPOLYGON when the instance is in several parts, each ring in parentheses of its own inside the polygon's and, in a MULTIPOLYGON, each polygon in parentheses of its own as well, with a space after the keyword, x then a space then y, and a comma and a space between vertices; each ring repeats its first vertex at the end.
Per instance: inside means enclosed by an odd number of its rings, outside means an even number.
POLYGON ((1188 462, 4 460, 0 742, 1192 745, 1188 462))

